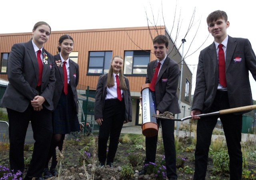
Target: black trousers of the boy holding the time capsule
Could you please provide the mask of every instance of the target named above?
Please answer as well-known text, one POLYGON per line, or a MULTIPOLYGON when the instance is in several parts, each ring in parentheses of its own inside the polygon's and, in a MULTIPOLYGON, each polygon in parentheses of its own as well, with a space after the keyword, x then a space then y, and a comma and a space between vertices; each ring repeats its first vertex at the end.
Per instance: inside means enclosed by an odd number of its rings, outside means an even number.
MULTIPOLYGON (((160 120, 157 120, 158 126, 160 120)), ((164 154, 166 163, 166 174, 168 178, 178 178, 176 174, 176 150, 174 144, 174 121, 161 119, 162 135, 164 141, 164 154)), ((156 144, 158 136, 146 137, 146 158, 144 164, 155 162, 156 144)))

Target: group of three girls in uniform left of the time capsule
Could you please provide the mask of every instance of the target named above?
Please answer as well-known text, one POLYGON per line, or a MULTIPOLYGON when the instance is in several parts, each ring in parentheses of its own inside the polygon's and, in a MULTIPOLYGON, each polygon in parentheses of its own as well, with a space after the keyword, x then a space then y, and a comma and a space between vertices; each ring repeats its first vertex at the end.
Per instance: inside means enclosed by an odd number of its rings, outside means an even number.
MULTIPOLYGON (((23 149, 30 121, 35 140, 24 180, 56 176, 56 147, 62 150, 65 135, 80 130, 76 90, 79 66, 69 58, 74 40, 69 35, 61 36, 59 53, 52 56, 43 47, 50 34, 46 22, 37 22, 31 40, 14 44, 8 58, 9 84, 1 103, 8 112, 10 168, 14 172, 24 172, 23 149)), ((98 157, 101 165, 107 159, 111 167, 122 125, 132 121, 130 87, 122 72, 123 63, 121 56, 114 56, 109 73, 100 76, 96 89, 95 120, 100 125, 98 157), (118 111, 114 107, 119 107, 118 111)))

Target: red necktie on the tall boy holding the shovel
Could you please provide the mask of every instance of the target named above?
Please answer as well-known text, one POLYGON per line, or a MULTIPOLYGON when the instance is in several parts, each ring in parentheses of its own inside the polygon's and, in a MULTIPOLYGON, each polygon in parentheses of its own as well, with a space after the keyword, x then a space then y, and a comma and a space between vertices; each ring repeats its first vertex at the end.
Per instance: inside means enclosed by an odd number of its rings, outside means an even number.
POLYGON ((225 56, 224 56, 224 50, 222 49, 223 44, 219 44, 219 78, 220 78, 220 84, 224 87, 227 86, 226 81, 226 63, 225 63, 225 56))

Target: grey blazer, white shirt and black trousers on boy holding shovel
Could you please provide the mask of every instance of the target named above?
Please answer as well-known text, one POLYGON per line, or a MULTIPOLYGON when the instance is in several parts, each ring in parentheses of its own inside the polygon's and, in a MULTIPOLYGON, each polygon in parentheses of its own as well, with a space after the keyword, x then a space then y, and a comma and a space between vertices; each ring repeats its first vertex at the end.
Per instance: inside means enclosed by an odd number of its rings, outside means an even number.
MULTIPOLYGON (((196 74, 196 89, 193 109, 210 113, 234 107, 252 105, 249 71, 256 79, 256 56, 248 39, 226 37, 222 44, 226 48, 226 87, 220 86, 218 68, 218 43, 213 42, 200 52, 196 74), (224 43, 226 41, 226 43, 224 43)), ((242 178, 241 132, 242 114, 201 117, 197 123, 194 180, 204 180, 207 170, 208 151, 212 131, 218 117, 223 129, 230 156, 230 179, 242 178)))

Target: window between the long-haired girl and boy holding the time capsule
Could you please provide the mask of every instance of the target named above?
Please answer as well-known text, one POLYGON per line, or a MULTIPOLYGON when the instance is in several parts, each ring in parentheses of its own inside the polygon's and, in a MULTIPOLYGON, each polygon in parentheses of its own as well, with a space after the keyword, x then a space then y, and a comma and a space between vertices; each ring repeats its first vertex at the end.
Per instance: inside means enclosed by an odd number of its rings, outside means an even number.
POLYGON ((145 75, 150 61, 150 50, 148 51, 125 51, 124 74, 145 75))

